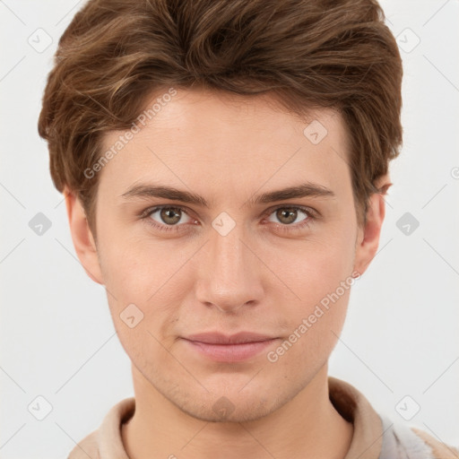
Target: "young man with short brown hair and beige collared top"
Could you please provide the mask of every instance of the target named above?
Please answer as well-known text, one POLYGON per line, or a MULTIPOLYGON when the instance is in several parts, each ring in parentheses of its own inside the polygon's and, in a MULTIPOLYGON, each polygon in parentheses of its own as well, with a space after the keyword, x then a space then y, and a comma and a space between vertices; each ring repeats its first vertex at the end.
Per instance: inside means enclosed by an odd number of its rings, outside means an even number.
POLYGON ((401 59, 371 0, 91 0, 39 118, 134 398, 70 458, 457 457, 327 375, 377 252, 401 59))

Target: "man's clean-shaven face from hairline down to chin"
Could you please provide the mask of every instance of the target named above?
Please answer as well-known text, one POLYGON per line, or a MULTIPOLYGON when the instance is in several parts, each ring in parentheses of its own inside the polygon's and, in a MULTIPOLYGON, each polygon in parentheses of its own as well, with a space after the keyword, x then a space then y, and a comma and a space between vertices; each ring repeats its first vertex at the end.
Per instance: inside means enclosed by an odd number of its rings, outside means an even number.
POLYGON ((229 420, 260 418, 324 368, 352 273, 377 247, 382 219, 365 243, 357 225, 342 118, 194 90, 139 126, 98 172, 97 255, 77 251, 144 385, 201 420, 219 420, 219 403, 229 420), (234 353, 187 341, 207 332, 273 340, 234 353))

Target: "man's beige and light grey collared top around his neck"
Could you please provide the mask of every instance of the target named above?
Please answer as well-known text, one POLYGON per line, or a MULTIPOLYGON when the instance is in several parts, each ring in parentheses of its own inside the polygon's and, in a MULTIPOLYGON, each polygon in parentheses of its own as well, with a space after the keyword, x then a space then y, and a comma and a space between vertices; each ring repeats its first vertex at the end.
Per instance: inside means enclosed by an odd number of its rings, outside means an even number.
MULTIPOLYGON (((427 432, 377 414, 355 387, 328 377, 335 409, 352 422, 354 433, 344 459, 457 459, 459 449, 446 446, 427 432)), ((74 447, 67 459, 129 459, 121 438, 121 424, 134 414, 134 397, 117 403, 94 430, 74 447)))

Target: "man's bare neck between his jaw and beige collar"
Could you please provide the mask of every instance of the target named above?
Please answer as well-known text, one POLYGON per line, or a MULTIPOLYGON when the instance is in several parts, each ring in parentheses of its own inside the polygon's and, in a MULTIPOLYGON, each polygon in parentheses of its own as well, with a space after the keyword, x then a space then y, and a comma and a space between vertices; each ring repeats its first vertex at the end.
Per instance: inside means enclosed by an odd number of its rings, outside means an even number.
POLYGON ((197 420, 145 380, 133 366, 135 412, 121 434, 130 459, 143 457, 248 459, 342 459, 351 445, 352 424, 330 402, 327 365, 277 411, 247 422, 197 420))

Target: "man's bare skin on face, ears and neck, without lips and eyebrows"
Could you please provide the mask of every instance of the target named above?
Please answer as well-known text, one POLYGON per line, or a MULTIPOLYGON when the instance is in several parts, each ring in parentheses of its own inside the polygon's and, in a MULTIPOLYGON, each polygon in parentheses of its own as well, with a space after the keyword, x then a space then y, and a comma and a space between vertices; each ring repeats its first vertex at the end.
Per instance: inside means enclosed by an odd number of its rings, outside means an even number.
MULTIPOLYGON (((91 279, 106 286, 132 360, 136 409, 122 429, 130 458, 338 459, 348 451, 353 427, 329 400, 327 362, 351 290, 276 362, 266 358, 341 281, 366 271, 385 217, 383 196, 372 195, 368 222, 358 226, 342 117, 329 109, 310 115, 300 120, 265 95, 180 90, 99 172, 97 245, 80 202, 65 191, 76 253, 91 279), (328 131, 316 145, 303 134, 313 119, 328 131), (306 181, 334 197, 248 203, 306 181), (140 182, 202 195, 210 208, 121 196, 140 182), (148 224, 174 226, 160 212, 139 218, 171 204, 177 232, 148 224), (276 212, 293 206, 319 216, 300 228, 308 214, 298 210, 290 222, 276 212), (226 236, 212 227, 221 212, 235 222, 226 236), (134 328, 120 318, 129 304, 143 311, 134 328), (180 339, 216 330, 281 340, 247 361, 219 363, 180 339), (212 409, 222 396, 233 407, 224 419, 212 409)), ((120 134, 108 133, 105 146, 120 134)))

